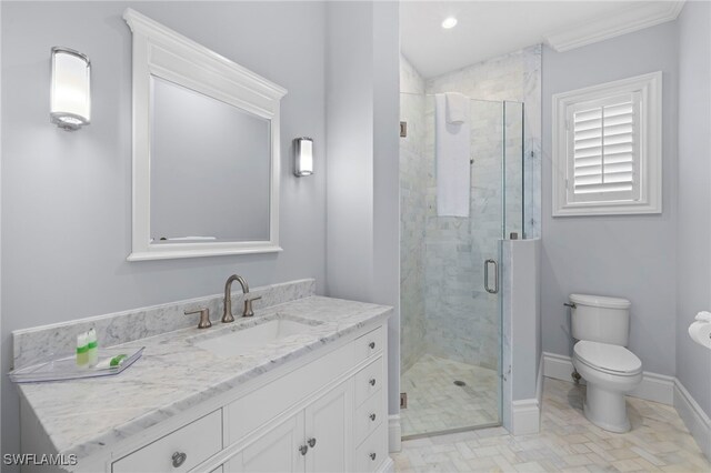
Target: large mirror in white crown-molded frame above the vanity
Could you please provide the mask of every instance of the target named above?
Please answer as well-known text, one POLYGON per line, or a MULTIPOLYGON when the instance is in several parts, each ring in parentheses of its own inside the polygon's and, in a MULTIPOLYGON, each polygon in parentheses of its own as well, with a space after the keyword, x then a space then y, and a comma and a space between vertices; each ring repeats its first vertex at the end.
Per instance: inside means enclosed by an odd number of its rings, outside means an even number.
POLYGON ((129 261, 281 251, 287 91, 127 9, 133 33, 129 261))

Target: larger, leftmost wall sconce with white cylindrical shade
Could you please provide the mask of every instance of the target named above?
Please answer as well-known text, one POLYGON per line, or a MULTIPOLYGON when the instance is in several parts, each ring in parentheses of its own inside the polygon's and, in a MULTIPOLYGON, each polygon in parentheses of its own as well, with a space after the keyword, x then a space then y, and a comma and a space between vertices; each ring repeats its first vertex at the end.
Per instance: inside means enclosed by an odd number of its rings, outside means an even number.
POLYGON ((69 48, 52 48, 50 120, 67 131, 79 130, 91 121, 91 64, 69 48))

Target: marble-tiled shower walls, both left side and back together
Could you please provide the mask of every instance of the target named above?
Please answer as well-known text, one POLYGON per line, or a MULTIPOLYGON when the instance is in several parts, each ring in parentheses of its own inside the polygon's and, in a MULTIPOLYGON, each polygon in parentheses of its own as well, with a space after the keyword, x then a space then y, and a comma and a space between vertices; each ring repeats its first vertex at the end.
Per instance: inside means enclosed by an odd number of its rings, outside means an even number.
POLYGON ((483 261, 499 259, 502 234, 540 233, 540 70, 541 48, 535 46, 430 79, 422 91, 417 71, 407 59, 401 62, 401 91, 424 93, 401 94, 401 119, 409 127, 408 138, 401 139, 403 372, 423 352, 498 369, 498 296, 484 290, 483 261), (477 99, 470 109, 469 219, 437 215, 434 100, 427 94, 453 91, 477 99), (415 164, 419 173, 412 172, 415 164))

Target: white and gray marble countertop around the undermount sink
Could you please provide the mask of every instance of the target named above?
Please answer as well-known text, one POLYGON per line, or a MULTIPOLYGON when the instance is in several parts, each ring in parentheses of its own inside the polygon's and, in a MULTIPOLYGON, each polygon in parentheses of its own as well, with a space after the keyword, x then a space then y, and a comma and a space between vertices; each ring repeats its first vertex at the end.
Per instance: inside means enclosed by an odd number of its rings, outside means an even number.
POLYGON ((384 320, 392 309, 363 302, 309 296, 259 311, 251 319, 177 330, 120 346, 146 346, 116 376, 18 384, 58 453, 87 457, 262 373, 384 320), (220 358, 194 346, 274 318, 302 320, 304 333, 266 344, 249 354, 220 358))

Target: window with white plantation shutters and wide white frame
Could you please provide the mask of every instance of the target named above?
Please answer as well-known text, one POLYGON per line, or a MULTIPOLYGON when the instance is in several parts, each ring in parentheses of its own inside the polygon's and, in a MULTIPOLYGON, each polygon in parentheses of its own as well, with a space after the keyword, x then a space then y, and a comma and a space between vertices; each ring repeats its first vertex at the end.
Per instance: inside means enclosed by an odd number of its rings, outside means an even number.
POLYGON ((553 217, 661 213, 661 82, 553 95, 553 217))

